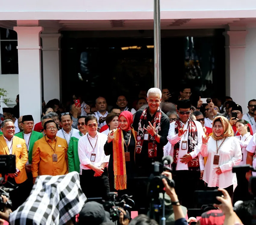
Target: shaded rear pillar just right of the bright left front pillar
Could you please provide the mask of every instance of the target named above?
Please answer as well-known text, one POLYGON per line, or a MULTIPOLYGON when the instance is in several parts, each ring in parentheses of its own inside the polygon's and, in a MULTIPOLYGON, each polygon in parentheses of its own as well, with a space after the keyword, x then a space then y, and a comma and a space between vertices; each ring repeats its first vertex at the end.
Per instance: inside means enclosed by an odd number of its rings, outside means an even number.
POLYGON ((60 99, 60 37, 61 34, 41 34, 46 103, 53 98, 60 99))

